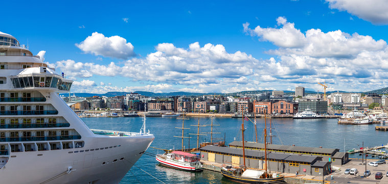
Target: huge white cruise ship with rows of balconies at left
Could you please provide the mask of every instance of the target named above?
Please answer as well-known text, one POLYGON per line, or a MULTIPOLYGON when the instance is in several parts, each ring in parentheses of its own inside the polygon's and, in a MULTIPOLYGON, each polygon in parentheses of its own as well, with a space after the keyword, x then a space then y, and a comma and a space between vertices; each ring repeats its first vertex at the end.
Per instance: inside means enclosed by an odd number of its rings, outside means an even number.
POLYGON ((0 32, 1 183, 119 183, 150 146, 145 120, 140 132, 89 129, 58 95, 72 83, 0 32))

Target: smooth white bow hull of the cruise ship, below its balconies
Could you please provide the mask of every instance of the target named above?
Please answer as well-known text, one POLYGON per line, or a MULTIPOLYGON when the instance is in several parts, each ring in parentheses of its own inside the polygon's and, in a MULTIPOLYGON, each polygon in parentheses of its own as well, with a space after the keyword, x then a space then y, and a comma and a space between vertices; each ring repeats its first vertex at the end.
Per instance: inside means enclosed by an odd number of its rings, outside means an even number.
POLYGON ((42 183, 73 167, 73 171, 47 183, 119 183, 153 141, 153 135, 141 139, 98 137, 85 142, 89 146, 75 149, 12 153, 0 169, 2 183, 42 183), (118 146, 112 147, 110 146, 118 146), (105 148, 88 152, 74 151, 105 148), (73 151, 73 153, 69 153, 73 151), (37 156, 42 154, 42 156, 37 156), (123 160, 120 160, 124 157, 123 160), (117 159, 115 163, 113 160, 117 159), (102 165, 105 162, 105 165, 102 165), (22 164, 21 164, 22 163, 22 164), (20 177, 22 176, 22 177, 20 177))

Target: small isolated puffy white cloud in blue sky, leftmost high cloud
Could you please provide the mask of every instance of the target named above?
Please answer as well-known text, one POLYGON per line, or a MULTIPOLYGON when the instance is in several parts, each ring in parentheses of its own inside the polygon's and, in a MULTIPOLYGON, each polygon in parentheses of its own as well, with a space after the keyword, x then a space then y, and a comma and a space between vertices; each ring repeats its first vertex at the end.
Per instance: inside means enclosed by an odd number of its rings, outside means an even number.
POLYGON ((105 37, 101 33, 94 32, 76 46, 85 53, 92 53, 105 57, 127 59, 135 56, 133 45, 120 36, 105 37))

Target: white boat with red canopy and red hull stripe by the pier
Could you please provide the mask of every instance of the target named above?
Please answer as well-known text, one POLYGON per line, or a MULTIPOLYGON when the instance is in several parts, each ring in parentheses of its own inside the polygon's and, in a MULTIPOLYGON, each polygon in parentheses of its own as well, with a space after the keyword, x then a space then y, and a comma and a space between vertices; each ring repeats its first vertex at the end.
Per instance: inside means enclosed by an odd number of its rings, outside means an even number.
POLYGON ((199 162, 199 155, 183 151, 157 154, 156 161, 171 168, 186 171, 202 171, 201 163, 199 162))

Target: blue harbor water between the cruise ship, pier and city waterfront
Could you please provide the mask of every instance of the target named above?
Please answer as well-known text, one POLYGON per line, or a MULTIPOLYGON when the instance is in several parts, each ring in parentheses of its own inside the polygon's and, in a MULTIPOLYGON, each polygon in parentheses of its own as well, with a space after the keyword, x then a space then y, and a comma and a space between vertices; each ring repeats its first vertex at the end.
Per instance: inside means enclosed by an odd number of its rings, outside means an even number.
MULTIPOLYGON (((155 135, 155 140, 151 147, 163 149, 181 149, 181 139, 174 137, 181 136, 181 117, 147 117, 146 128, 155 135)), ((142 127, 141 117, 128 118, 82 118, 89 128, 132 131, 138 132, 142 127)), ((213 118, 213 137, 224 138, 226 144, 232 141, 241 141, 242 119, 235 118, 213 118)), ((258 141, 263 143, 264 119, 257 119, 258 141)), ((191 136, 185 139, 185 148, 196 148, 197 136, 189 133, 197 133, 197 117, 189 117, 185 120, 184 136, 191 136)), ((199 118, 200 125, 210 125, 211 118, 199 118)), ((245 140, 256 141, 255 127, 252 122, 244 121, 245 140)), ((376 131, 375 126, 379 125, 338 125, 336 119, 272 119, 272 143, 283 145, 295 145, 306 147, 337 148, 340 151, 353 148, 360 148, 362 142, 364 147, 374 147, 386 145, 388 143, 388 131, 376 131), (345 141, 345 142, 344 142, 345 141), (345 144, 344 144, 345 143, 345 144)), ((269 133, 269 120, 267 119, 267 132, 269 133)), ((200 127, 200 133, 210 132, 210 126, 200 127)), ((200 136, 199 142, 210 141, 210 134, 200 136)), ((268 137, 268 142, 269 142, 268 137)), ((161 150, 149 148, 147 152, 152 154, 163 153, 161 150)), ((358 154, 349 156, 359 157, 358 154)), ((369 157, 371 158, 371 157, 369 157)), ((375 158, 377 159, 377 158, 375 158)), ((234 183, 222 177, 221 174, 212 171, 186 172, 159 166, 155 157, 143 155, 134 167, 126 174, 120 183, 160 183, 150 175, 162 180, 165 183, 234 183), (137 167, 136 167, 137 166, 137 167)))

